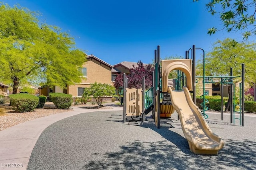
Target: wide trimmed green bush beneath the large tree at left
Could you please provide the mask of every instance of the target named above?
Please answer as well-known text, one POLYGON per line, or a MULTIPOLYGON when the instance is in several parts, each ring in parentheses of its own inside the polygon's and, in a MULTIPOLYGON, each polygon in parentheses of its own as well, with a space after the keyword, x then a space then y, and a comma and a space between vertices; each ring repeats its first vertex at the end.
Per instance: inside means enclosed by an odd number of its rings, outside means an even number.
POLYGON ((33 111, 39 102, 35 95, 25 93, 9 95, 9 98, 13 109, 19 113, 33 111))

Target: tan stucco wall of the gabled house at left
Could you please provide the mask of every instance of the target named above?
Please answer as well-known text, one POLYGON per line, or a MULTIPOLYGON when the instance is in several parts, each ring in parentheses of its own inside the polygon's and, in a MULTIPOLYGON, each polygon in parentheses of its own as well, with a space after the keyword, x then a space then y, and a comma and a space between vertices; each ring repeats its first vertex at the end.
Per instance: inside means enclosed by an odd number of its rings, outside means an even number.
POLYGON ((73 97, 77 97, 78 87, 90 87, 90 84, 94 82, 113 84, 111 81, 111 68, 103 63, 91 58, 84 63, 83 67, 86 67, 87 77, 82 77, 81 83, 68 86, 67 93, 73 97))

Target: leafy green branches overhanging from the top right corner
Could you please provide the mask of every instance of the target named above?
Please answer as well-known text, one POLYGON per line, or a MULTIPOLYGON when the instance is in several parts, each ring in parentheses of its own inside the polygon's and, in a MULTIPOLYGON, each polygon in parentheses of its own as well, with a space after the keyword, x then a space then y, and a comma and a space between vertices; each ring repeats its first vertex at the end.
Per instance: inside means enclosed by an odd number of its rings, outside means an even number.
POLYGON ((256 35, 255 0, 209 0, 206 9, 212 15, 217 15, 223 24, 220 29, 215 26, 209 28, 207 34, 212 35, 226 29, 227 32, 244 30, 242 32, 244 39, 256 35))

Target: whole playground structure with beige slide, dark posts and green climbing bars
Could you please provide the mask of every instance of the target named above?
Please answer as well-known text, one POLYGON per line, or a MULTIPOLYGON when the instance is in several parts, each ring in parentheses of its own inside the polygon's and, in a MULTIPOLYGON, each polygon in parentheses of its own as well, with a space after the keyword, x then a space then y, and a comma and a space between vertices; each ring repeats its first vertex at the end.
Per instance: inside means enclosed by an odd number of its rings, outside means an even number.
MULTIPOLYGON (((207 100, 205 95, 206 80, 207 83, 214 83, 211 78, 220 78, 220 84, 234 86, 232 76, 232 68, 230 76, 205 76, 204 71, 204 50, 201 48, 190 48, 186 51, 186 59, 172 59, 162 60, 162 67, 160 71, 160 46, 158 45, 155 50, 155 63, 152 85, 153 87, 145 91, 143 78, 142 89, 134 89, 130 92, 128 87, 128 79, 124 74, 124 122, 126 117, 140 117, 142 121, 145 120, 145 115, 152 111, 154 122, 157 128, 160 128, 160 117, 170 117, 174 112, 174 109, 178 113, 178 119, 180 118, 182 130, 184 136, 188 140, 189 148, 196 154, 218 154, 224 146, 224 142, 220 136, 217 136, 212 132, 206 120, 208 115, 205 111, 208 109, 205 105, 207 100), (203 51, 203 75, 197 76, 195 74, 195 59, 196 49, 203 51), (189 51, 192 51, 192 58, 188 58, 189 51), (168 75, 171 71, 178 70, 178 78, 175 80, 168 79, 168 75), (203 79, 203 99, 202 111, 195 105, 196 103, 196 78, 203 79), (182 79, 182 83, 180 81, 182 79), (181 87, 182 86, 182 87, 181 87), (139 93, 139 92, 142 93, 139 93), (190 92, 193 93, 193 100, 190 92), (128 96, 126 96, 126 93, 128 96), (161 102, 160 102, 161 101, 161 102), (142 105, 142 109, 137 109, 142 105)), ((240 118, 235 118, 235 103, 234 99, 231 101, 231 116, 230 122, 240 119, 240 125, 244 126, 244 64, 242 64, 242 77, 240 83, 240 118), (232 113, 233 112, 233 113, 232 113), (232 115, 233 114, 233 115, 232 115), (242 116, 241 116, 242 114, 242 116)), ((234 88, 233 93, 235 93, 234 88)), ((233 94, 234 95, 234 94, 233 94)), ((232 97, 231 97, 232 98, 232 97)), ((223 88, 222 88, 222 120, 223 120, 223 88)))

